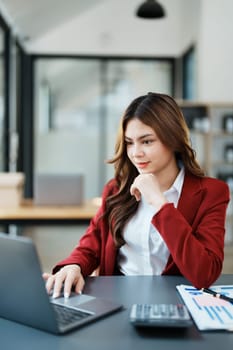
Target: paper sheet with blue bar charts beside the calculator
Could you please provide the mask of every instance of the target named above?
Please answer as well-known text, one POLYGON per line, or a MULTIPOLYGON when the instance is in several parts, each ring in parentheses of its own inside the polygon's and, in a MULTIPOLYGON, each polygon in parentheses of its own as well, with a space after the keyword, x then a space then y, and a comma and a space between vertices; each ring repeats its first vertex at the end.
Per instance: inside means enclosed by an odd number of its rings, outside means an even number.
MULTIPOLYGON (((233 331, 233 304, 189 285, 176 286, 197 328, 233 331)), ((212 286, 218 295, 233 298, 233 285, 212 286)))

